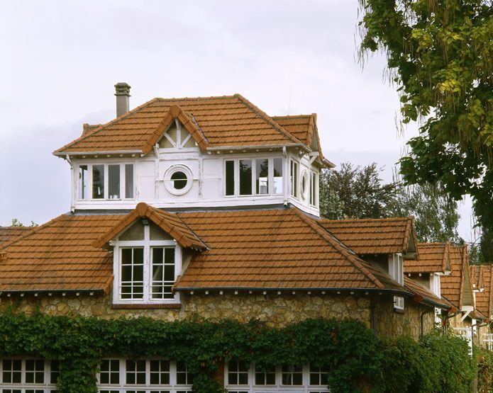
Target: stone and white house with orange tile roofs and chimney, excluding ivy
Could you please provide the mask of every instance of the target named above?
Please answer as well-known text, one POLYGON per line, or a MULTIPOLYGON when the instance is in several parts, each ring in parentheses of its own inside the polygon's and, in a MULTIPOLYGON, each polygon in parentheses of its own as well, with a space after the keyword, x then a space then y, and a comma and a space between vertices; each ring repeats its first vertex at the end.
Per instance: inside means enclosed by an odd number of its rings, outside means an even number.
MULTIPOLYGON (((271 117, 238 94, 155 98, 129 111, 129 91, 116 85, 116 119, 84 125, 54 152, 70 165, 70 212, 18 233, 1 229, 1 309, 272 326, 349 317, 376 335, 416 338, 436 308, 450 309, 404 278, 404 260, 419 256, 411 218, 321 220, 318 176, 333 164, 316 115, 271 117)), ((54 386, 48 360, 0 363, 6 389, 54 386)), ((328 391, 315 365, 259 373, 232 361, 224 386, 328 391)), ((101 360, 98 381, 100 392, 192 389, 173 359, 118 354, 101 360), (153 380, 156 368, 167 377, 153 380)))

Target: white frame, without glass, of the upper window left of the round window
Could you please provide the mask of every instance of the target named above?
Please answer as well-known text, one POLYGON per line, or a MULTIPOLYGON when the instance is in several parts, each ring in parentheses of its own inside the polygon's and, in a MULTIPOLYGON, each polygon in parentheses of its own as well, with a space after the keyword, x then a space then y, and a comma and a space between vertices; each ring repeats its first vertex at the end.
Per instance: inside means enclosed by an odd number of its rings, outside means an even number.
POLYGON ((116 162, 92 162, 91 164, 87 163, 78 163, 77 168, 74 169, 76 171, 76 178, 77 178, 77 183, 76 183, 76 190, 75 190, 75 195, 77 201, 92 201, 92 202, 101 202, 101 201, 114 201, 114 200, 135 200, 135 193, 136 193, 136 181, 135 181, 135 161, 116 161, 116 162), (133 166, 133 198, 125 198, 125 183, 126 183, 126 178, 125 178, 125 166, 131 164, 133 166), (99 166, 102 165, 104 166, 104 198, 92 198, 92 168, 93 166, 99 166), (108 186, 109 186, 109 169, 108 166, 110 165, 119 165, 120 166, 120 198, 116 199, 110 199, 108 195, 108 186), (80 195, 80 181, 79 181, 79 166, 87 166, 87 198, 81 199, 79 198, 80 195))

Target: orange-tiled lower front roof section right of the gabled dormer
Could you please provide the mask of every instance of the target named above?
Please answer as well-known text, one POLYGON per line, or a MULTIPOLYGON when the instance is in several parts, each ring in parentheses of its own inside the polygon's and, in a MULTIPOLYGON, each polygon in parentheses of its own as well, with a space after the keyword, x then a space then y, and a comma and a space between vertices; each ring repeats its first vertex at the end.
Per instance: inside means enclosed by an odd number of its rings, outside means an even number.
POLYGON ((210 249, 192 260, 177 290, 404 289, 295 208, 178 215, 210 249))

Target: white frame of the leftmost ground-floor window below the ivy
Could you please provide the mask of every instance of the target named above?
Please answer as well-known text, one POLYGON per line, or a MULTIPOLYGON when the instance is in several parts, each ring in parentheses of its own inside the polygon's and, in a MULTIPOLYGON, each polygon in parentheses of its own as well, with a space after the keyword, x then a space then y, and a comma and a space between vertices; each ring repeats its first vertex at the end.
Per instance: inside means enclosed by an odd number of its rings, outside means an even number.
POLYGON ((52 360, 41 359, 41 358, 21 358, 18 356, 6 356, 0 358, 0 387, 1 389, 15 389, 16 391, 20 391, 21 393, 25 393, 27 390, 42 391, 43 393, 55 392, 57 389, 56 383, 51 383, 51 363, 52 360), (21 382, 13 383, 13 382, 4 382, 4 360, 20 360, 21 361, 21 382), (34 382, 27 383, 26 382, 26 360, 43 360, 44 361, 44 369, 43 369, 43 383, 34 382))

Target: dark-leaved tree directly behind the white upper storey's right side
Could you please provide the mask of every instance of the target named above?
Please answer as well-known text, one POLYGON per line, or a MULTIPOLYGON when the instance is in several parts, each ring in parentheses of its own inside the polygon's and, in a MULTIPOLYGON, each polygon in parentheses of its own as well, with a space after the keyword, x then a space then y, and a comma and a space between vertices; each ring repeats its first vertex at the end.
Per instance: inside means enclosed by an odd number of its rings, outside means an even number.
POLYGON ((320 176, 321 215, 332 220, 342 218, 382 218, 389 215, 387 205, 395 193, 394 184, 384 184, 374 162, 324 171, 320 176))

